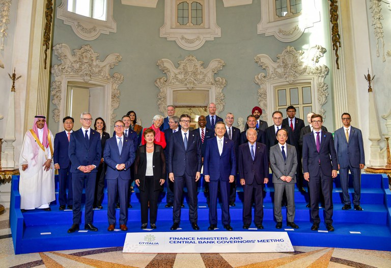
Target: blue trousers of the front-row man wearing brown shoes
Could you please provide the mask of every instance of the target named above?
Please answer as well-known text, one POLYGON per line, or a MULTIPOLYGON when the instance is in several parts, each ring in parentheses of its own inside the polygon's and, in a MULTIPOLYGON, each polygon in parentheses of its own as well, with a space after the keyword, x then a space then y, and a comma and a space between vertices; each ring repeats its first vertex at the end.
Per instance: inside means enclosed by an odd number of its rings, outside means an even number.
POLYGON ((107 220, 108 224, 116 224, 117 193, 120 199, 120 224, 128 222, 128 191, 129 180, 107 179, 107 220))

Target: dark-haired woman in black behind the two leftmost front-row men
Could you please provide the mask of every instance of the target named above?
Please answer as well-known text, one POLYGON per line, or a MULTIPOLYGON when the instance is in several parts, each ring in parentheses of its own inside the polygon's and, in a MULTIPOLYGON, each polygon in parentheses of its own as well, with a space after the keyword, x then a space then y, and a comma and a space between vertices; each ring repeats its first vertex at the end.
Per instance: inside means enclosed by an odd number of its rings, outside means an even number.
POLYGON ((102 145, 102 158, 100 159, 100 165, 98 167, 98 173, 96 174, 96 184, 95 184, 95 197, 94 197, 94 208, 102 209, 102 201, 103 201, 103 192, 104 192, 104 177, 106 174, 106 163, 104 163, 103 159, 103 150, 104 145, 106 144, 106 140, 110 138, 110 134, 105 132, 106 123, 103 118, 98 117, 95 119, 94 123, 95 131, 100 134, 100 142, 102 145))

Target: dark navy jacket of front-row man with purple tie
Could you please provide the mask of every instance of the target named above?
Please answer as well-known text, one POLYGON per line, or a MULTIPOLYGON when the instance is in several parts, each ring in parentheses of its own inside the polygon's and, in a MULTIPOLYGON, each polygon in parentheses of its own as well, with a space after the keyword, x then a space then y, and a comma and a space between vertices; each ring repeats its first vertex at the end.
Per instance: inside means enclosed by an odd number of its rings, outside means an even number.
POLYGON ((322 137, 319 152, 316 149, 314 132, 303 136, 303 172, 317 176, 321 171, 324 176, 331 177, 332 170, 338 170, 336 148, 330 132, 322 131, 320 134, 322 137))

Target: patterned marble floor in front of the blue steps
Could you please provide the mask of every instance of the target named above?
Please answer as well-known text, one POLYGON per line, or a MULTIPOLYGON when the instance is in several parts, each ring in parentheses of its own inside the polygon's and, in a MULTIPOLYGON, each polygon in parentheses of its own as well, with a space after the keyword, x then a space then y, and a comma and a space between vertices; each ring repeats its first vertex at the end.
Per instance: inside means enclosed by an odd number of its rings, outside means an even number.
POLYGON ((391 267, 391 252, 313 247, 290 253, 133 254, 117 247, 15 255, 8 218, 7 210, 0 215, 0 267, 391 267))

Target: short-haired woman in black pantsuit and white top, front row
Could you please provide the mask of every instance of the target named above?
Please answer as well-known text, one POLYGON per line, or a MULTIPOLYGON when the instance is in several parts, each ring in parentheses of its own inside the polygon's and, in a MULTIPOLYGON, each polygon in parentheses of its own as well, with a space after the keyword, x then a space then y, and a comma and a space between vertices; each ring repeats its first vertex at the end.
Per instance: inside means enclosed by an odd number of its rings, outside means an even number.
POLYGON ((134 182, 140 191, 141 229, 148 225, 148 203, 150 226, 156 229, 157 200, 165 181, 165 157, 163 148, 155 142, 153 129, 144 129, 143 138, 145 144, 138 147, 134 161, 134 182))

